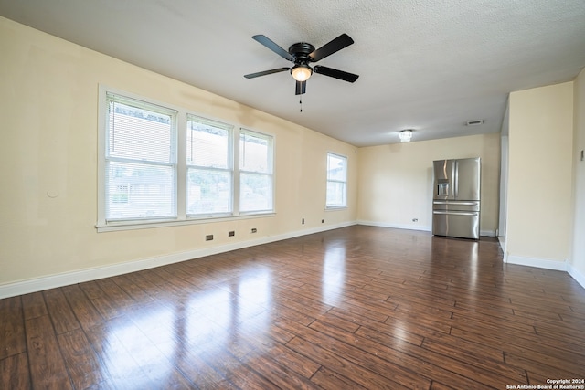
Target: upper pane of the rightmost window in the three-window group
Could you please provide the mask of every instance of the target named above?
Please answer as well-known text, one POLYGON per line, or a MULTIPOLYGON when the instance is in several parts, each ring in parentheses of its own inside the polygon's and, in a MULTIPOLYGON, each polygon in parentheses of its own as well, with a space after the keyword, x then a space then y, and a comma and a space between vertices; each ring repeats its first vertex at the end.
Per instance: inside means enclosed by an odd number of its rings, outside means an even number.
POLYGON ((250 132, 239 134, 239 169, 246 172, 271 173, 271 137, 250 132))

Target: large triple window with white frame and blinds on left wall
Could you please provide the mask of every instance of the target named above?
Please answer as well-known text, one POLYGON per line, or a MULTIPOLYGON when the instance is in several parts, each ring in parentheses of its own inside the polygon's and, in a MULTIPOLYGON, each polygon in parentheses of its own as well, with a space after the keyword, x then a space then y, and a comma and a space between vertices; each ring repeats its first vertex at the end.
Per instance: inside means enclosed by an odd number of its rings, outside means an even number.
POLYGON ((273 212, 270 135, 124 95, 100 87, 98 231, 273 212))

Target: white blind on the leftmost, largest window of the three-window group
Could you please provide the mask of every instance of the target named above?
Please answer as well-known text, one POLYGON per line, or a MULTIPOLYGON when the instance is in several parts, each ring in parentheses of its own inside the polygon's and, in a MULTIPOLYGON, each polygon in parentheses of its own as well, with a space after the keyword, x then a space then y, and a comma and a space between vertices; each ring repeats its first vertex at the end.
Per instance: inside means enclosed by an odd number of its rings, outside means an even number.
POLYGON ((107 221, 176 217, 176 111, 106 94, 107 221))

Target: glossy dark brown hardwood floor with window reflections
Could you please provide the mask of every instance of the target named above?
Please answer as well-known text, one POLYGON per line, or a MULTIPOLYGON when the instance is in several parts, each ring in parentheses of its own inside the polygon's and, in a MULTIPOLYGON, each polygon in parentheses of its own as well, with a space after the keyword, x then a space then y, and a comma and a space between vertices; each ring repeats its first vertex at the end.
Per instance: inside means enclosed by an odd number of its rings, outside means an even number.
POLYGON ((585 290, 502 256, 491 238, 355 226, 0 300, 0 388, 582 380, 585 290))

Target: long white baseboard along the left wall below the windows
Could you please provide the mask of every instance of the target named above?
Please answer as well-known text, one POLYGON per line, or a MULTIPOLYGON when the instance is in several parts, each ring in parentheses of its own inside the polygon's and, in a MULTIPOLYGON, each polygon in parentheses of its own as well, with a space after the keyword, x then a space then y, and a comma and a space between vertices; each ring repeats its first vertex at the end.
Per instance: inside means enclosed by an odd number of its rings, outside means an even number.
POLYGON ((294 232, 278 236, 260 237, 257 239, 240 241, 234 244, 221 245, 218 247, 194 249, 186 252, 174 253, 171 255, 158 256, 154 258, 144 258, 140 260, 128 261, 125 263, 113 264, 104 267, 80 269, 56 275, 49 275, 41 278, 19 280, 13 283, 6 283, 0 285, 0 299, 15 297, 16 295, 28 294, 30 292, 69 286, 71 284, 82 283, 84 281, 111 278, 117 275, 140 271, 143 269, 152 269, 154 267, 165 266, 167 264, 178 263, 180 261, 186 261, 193 258, 203 258, 205 256, 216 255, 218 253, 229 252, 231 250, 254 247, 256 245, 268 244, 274 241, 281 241, 283 239, 306 236, 314 233, 323 232, 326 230, 333 230, 340 227, 349 227, 352 225, 356 225, 356 223, 349 222, 305 230, 297 230, 294 232))

